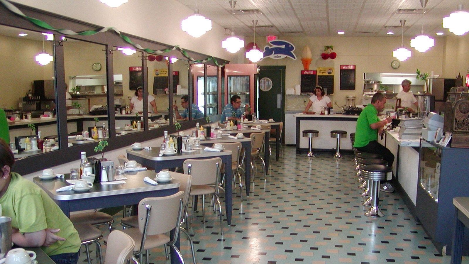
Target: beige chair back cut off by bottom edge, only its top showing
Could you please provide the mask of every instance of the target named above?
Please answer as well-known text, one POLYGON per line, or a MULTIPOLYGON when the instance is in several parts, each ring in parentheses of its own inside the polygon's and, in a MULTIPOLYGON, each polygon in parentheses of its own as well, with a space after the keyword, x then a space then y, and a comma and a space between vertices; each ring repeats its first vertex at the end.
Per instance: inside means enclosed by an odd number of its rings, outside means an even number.
POLYGON ((127 264, 132 259, 135 241, 128 234, 114 230, 107 238, 104 264, 127 264))

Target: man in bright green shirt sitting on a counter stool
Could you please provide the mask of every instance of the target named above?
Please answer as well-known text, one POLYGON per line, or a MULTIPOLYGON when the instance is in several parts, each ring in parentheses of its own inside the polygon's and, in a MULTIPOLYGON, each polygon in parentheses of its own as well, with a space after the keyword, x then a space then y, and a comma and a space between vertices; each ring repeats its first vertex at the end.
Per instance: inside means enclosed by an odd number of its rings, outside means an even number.
MULTIPOLYGON (((383 126, 393 120, 388 117, 383 121, 379 121, 378 111, 383 110, 385 104, 386 97, 382 93, 377 92, 373 95, 371 104, 363 109, 356 121, 355 143, 353 146, 358 151, 379 154, 387 161, 388 166, 393 166, 393 153, 378 143, 378 134, 383 132, 383 126)), ((382 182, 380 190, 392 193, 394 188, 389 181, 385 181, 382 182)))

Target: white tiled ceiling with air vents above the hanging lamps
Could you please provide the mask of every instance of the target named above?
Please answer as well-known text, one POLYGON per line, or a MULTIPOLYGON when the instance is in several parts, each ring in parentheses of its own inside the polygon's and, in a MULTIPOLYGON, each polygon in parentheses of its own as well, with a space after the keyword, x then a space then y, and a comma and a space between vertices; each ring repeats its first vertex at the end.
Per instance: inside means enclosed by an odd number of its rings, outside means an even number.
MULTIPOLYGON (((443 17, 448 16, 463 2, 468 10, 467 0, 428 0, 425 15, 394 14, 398 9, 422 8, 419 0, 238 0, 236 9, 259 9, 261 15, 234 15, 228 0, 178 0, 191 9, 230 29, 234 33, 253 36, 252 20, 258 20, 257 36, 387 36, 386 26, 400 26, 406 20, 404 36, 420 34, 422 22, 424 32, 430 36, 442 31, 453 34, 442 27, 443 17), (260 26, 260 27, 259 27, 260 26), (262 26, 271 26, 263 28, 262 26), (370 33, 363 33, 366 31, 370 33), (295 33, 293 33, 295 32, 295 33)), ((401 28, 393 29, 394 36, 401 35, 401 28)))

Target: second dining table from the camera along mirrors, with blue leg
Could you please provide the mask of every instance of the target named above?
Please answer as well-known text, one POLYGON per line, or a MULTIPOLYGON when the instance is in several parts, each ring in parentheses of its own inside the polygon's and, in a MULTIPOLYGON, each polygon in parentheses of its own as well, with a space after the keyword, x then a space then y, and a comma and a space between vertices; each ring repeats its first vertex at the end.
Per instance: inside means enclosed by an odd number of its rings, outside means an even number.
MULTIPOLYGON (((160 156, 159 147, 151 147, 150 150, 133 150, 126 149, 127 158, 136 160, 142 166, 153 167, 155 172, 160 172, 164 168, 182 167, 186 159, 205 159, 205 158, 221 158, 225 163, 225 167, 231 168, 232 151, 204 151, 203 149, 194 150, 192 152, 177 152, 174 155, 160 156)), ((227 170, 225 172, 225 212, 227 214, 227 224, 231 225, 231 214, 233 211, 233 192, 231 181, 233 181, 233 172, 227 170)))

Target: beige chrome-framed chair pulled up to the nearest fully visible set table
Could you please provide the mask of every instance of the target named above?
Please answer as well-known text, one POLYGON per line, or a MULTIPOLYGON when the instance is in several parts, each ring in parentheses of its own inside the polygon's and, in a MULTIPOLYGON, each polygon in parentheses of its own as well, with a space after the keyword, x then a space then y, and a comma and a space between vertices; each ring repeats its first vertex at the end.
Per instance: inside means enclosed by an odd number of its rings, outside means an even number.
POLYGON ((182 217, 183 191, 170 196, 144 198, 138 203, 138 228, 123 230, 135 240, 133 254, 141 263, 145 253, 145 263, 149 263, 149 250, 162 245, 171 247, 184 263, 181 252, 175 246, 179 236, 179 223, 182 217), (166 233, 174 229, 172 235, 166 233))

